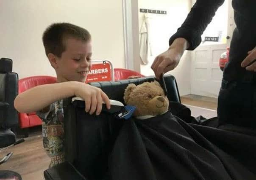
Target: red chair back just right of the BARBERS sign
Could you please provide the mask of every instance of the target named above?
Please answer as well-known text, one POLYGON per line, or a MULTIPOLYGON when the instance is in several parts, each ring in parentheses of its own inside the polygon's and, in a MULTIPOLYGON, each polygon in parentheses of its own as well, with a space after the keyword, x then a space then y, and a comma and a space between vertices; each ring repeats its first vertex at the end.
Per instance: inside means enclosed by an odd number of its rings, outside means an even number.
POLYGON ((131 76, 138 76, 138 77, 145 77, 145 75, 142 75, 136 71, 133 70, 127 70, 122 68, 114 68, 114 78, 115 81, 122 80, 122 79, 128 79, 131 76))

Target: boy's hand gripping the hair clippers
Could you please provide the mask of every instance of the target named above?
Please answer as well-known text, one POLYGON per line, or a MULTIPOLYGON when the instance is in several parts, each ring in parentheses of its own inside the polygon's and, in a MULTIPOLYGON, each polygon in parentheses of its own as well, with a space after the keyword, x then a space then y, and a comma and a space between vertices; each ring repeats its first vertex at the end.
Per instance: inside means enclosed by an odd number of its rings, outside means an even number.
POLYGON ((78 82, 78 85, 75 86, 74 94, 84 99, 86 113, 93 114, 96 111, 96 115, 99 115, 103 102, 110 109, 109 97, 100 88, 78 82))

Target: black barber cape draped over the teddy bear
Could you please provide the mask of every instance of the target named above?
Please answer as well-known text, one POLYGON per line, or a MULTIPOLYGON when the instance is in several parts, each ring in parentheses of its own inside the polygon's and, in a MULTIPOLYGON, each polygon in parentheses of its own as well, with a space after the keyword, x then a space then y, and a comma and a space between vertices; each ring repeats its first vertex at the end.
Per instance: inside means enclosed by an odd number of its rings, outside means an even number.
POLYGON ((76 111, 74 164, 88 180, 256 180, 256 137, 188 124, 170 111, 125 121, 76 111))

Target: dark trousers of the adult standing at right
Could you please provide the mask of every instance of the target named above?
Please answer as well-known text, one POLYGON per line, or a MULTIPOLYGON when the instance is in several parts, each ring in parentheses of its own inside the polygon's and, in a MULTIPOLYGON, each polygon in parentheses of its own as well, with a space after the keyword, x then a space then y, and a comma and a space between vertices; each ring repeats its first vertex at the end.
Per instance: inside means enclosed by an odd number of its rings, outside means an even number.
POLYGON ((222 80, 217 108, 219 125, 233 124, 256 129, 256 82, 222 80))

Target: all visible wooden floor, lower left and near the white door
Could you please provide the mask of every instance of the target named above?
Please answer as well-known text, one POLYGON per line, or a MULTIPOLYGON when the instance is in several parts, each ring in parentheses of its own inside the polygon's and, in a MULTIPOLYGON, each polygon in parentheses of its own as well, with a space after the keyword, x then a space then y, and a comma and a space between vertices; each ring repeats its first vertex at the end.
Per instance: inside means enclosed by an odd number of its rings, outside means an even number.
MULTIPOLYGON (((192 105, 191 108, 198 106, 212 110, 217 109, 217 99, 214 98, 187 95, 181 97, 181 102, 192 105)), ((194 109, 197 111, 194 114, 203 115, 205 113, 205 109, 194 109)), ((191 110, 193 111, 193 109, 191 110)), ((41 127, 32 128, 29 137, 25 138, 25 142, 0 152, 0 159, 7 153, 13 152, 10 159, 0 165, 0 169, 18 172, 22 176, 22 180, 44 180, 43 172, 48 168, 50 158, 43 149, 41 131, 41 127)))

